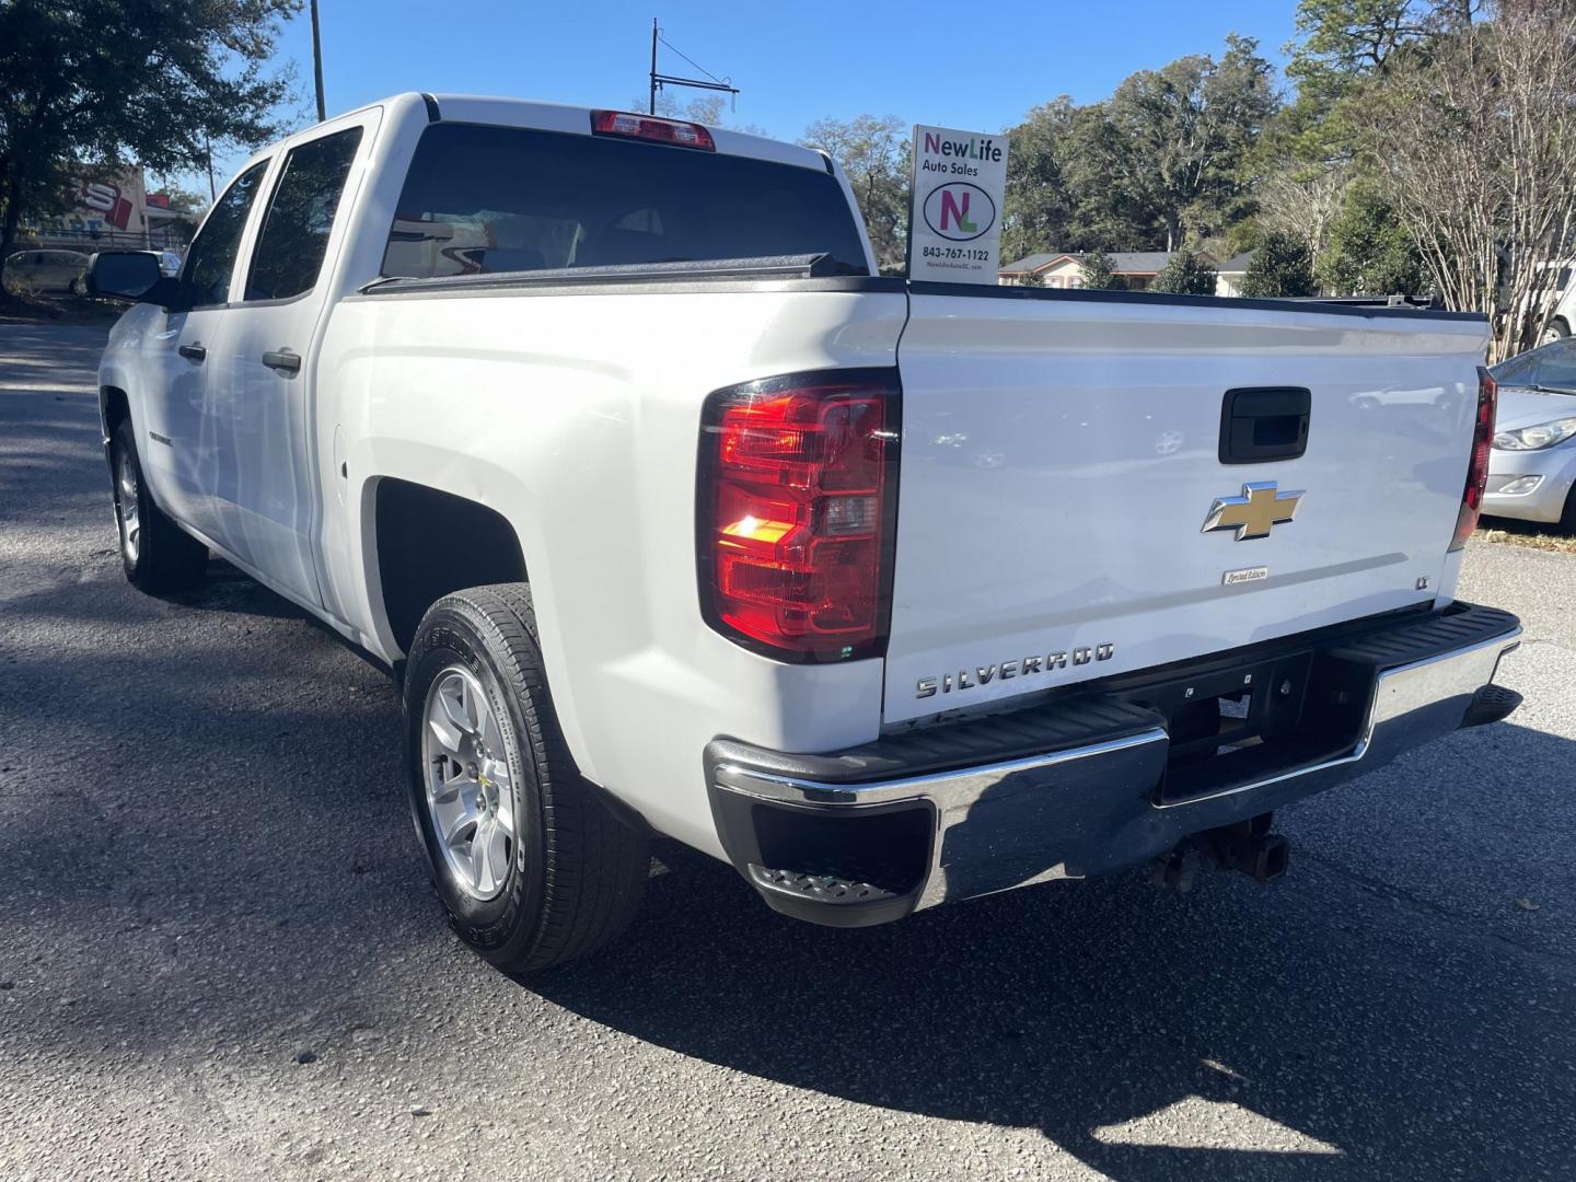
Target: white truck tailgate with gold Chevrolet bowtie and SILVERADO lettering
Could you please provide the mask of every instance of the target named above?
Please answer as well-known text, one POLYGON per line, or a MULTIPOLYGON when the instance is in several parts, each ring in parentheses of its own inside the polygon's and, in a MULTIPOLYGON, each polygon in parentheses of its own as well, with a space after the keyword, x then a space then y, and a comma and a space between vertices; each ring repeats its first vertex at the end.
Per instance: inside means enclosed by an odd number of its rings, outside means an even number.
POLYGON ((916 288, 886 722, 1433 602, 1485 340, 1451 314, 916 288), (1239 408, 1277 419, 1272 452, 1307 391, 1300 457, 1223 462, 1239 389, 1270 391, 1239 408))

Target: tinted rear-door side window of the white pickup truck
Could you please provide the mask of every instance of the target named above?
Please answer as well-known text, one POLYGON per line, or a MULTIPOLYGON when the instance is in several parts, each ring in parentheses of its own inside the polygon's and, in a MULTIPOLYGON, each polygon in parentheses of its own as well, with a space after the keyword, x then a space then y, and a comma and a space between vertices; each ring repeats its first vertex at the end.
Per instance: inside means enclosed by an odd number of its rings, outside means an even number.
POLYGON ((252 252, 246 299, 288 299, 317 285, 361 128, 292 148, 252 252))

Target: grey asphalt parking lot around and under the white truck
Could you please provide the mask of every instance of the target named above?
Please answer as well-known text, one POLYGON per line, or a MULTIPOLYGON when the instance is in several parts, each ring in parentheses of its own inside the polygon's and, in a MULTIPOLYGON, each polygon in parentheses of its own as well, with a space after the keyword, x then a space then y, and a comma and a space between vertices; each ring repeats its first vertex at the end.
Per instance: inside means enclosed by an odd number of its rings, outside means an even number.
POLYGON ((1474 542, 1507 723, 1144 873, 832 931, 681 849, 607 953, 448 935, 392 684, 121 577, 101 328, 0 323, 0 1176, 1576 1177, 1576 555, 1474 542))

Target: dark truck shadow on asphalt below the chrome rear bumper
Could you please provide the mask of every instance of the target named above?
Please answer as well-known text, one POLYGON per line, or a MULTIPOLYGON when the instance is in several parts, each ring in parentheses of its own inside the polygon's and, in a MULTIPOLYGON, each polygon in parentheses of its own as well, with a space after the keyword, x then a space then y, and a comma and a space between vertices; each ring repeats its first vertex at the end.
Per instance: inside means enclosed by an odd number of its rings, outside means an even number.
MULTIPOLYGON (((1576 756, 1502 731, 1513 752, 1576 756)), ((1132 873, 835 931, 769 914, 703 856, 667 857, 623 944, 531 987, 761 1078, 1037 1127, 1127 1182, 1538 1177, 1573 1144, 1568 968, 1318 862, 1269 889, 1214 876, 1179 897, 1132 873), (1332 914, 1332 895, 1351 901, 1332 914), (1264 1149, 1177 1144, 1179 1105, 1193 1138, 1212 1124, 1199 1105, 1240 1106, 1264 1149)))

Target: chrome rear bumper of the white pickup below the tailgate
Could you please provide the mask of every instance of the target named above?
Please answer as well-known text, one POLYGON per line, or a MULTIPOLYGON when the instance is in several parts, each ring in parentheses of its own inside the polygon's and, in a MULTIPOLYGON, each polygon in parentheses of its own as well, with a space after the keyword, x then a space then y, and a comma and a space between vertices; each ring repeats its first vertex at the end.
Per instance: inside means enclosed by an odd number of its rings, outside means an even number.
POLYGON ((1373 662, 1366 712, 1344 750, 1187 799, 1160 791, 1171 755, 1165 720, 1094 693, 1061 714, 1040 708, 1045 717, 1035 719, 1083 728, 1092 741, 939 769, 925 764, 946 764, 949 744, 958 752, 998 739, 1010 747, 1032 728, 1007 716, 823 756, 720 739, 706 753, 712 812, 734 865, 768 903, 832 925, 878 924, 946 900, 1135 865, 1191 834, 1267 813, 1515 709, 1519 698, 1508 690, 1481 693, 1519 643, 1515 616, 1463 607, 1444 637, 1429 629, 1439 619, 1399 621, 1311 649, 1373 662), (1407 659, 1409 651, 1425 656, 1407 659), (908 774, 905 764, 922 769, 908 774))

